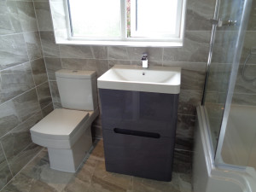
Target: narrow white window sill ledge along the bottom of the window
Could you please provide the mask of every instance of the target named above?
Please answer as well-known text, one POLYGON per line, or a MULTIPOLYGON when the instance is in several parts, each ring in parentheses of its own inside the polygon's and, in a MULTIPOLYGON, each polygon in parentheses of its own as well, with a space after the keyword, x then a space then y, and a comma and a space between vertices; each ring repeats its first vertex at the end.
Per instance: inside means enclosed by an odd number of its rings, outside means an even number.
POLYGON ((56 44, 115 45, 131 47, 182 47, 182 42, 86 41, 58 39, 56 44))

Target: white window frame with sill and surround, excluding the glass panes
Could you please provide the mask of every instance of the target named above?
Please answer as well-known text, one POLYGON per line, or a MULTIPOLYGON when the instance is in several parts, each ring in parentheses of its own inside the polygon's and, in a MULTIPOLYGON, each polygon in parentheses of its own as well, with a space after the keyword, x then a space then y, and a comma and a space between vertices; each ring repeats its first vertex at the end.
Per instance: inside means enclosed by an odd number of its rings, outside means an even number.
MULTIPOLYGON (((67 34, 61 35, 59 37, 59 32, 55 32, 56 44, 90 44, 90 45, 125 45, 125 46, 152 46, 152 47, 180 47, 183 45, 183 33, 184 33, 184 20, 185 20, 185 8, 187 0, 179 0, 179 18, 180 27, 178 27, 177 37, 171 38, 126 38, 127 30, 126 30, 126 1, 120 0, 120 10, 121 10, 121 38, 85 38, 85 37, 73 37, 71 20, 70 20, 70 12, 68 8, 68 0, 62 0, 64 5, 65 12, 65 20, 67 26, 67 34), (64 38, 63 38, 64 37, 64 38)), ((72 0, 70 0, 72 1, 72 0)), ((54 3, 55 0, 50 0, 50 4, 54 3)), ((132 1, 131 1, 132 2, 132 1)), ((51 9, 51 15, 55 15, 53 13, 53 9, 51 9)), ((132 18, 131 18, 132 19, 132 18)), ((53 18, 54 26, 57 26, 56 20, 53 18)), ((178 22, 177 22, 178 23, 178 22)), ((55 27, 54 27, 55 28, 55 27)), ((55 30, 57 31, 57 30, 55 30)))

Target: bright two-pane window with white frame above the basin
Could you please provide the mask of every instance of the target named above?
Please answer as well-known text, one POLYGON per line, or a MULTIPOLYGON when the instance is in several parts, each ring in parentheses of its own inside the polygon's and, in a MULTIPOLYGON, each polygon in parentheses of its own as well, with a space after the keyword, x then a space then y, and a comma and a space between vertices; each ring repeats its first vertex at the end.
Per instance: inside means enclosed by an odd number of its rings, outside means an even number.
POLYGON ((69 39, 182 43, 184 9, 185 0, 67 0, 69 39))

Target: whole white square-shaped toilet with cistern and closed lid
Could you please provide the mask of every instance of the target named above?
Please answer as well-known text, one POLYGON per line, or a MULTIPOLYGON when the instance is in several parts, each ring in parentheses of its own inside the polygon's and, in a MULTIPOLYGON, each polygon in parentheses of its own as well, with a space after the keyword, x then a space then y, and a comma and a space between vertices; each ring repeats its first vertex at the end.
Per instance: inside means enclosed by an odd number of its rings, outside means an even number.
POLYGON ((32 142, 48 148, 50 167, 76 172, 92 146, 90 125, 99 114, 96 72, 55 72, 62 108, 31 129, 32 142))

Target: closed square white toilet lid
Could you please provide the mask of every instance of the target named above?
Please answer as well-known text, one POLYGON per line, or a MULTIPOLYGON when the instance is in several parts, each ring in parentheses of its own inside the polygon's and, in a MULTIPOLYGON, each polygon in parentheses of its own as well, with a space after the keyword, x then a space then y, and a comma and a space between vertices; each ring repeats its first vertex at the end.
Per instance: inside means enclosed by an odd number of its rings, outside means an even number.
POLYGON ((38 137, 69 139, 78 130, 79 125, 88 118, 89 113, 85 111, 56 108, 34 125, 30 131, 38 137))

